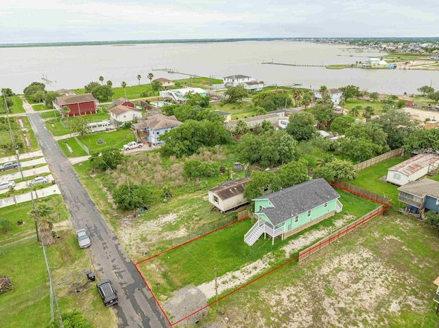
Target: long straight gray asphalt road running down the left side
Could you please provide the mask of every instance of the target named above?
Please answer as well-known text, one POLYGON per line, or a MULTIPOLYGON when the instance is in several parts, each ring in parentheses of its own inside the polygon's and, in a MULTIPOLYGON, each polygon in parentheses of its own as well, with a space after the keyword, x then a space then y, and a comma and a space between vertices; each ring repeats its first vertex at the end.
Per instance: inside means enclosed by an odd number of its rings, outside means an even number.
MULTIPOLYGON (((115 285, 119 304, 113 305, 118 327, 170 327, 151 293, 114 232, 106 225, 97 207, 80 183, 69 160, 45 128, 39 114, 28 114, 38 143, 67 203, 73 225, 91 235, 87 249, 98 279, 108 278, 115 285)), ((96 297, 99 295, 96 292, 96 297)), ((104 306, 104 305, 102 305, 104 306)))

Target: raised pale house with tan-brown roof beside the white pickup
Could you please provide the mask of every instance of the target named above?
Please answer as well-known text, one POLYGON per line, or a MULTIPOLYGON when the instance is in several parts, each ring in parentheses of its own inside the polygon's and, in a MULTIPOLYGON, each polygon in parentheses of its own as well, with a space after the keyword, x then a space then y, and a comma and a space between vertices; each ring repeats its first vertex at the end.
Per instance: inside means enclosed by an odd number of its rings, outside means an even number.
POLYGON ((163 144, 163 141, 158 140, 160 136, 180 125, 182 123, 174 115, 154 114, 147 116, 146 121, 131 125, 131 130, 137 140, 146 140, 146 142, 152 144, 163 144))

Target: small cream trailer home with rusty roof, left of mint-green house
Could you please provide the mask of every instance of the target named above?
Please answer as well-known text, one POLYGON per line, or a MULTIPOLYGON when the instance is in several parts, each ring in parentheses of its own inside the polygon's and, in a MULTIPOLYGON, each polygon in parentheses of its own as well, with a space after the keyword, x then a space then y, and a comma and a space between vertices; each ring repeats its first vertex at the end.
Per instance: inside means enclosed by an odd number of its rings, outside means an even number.
POLYGON ((217 207, 221 212, 234 210, 235 208, 248 203, 244 197, 244 187, 250 177, 244 179, 227 181, 224 184, 209 190, 209 203, 217 207))

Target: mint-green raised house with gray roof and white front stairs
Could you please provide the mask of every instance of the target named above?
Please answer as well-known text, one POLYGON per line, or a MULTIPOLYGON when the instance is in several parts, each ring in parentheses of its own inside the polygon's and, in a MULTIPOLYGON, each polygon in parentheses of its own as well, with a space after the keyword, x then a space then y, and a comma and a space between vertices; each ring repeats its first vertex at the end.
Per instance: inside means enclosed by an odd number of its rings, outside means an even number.
POLYGON ((283 240, 297 234, 341 212, 339 198, 340 194, 320 178, 252 199, 258 221, 244 236, 244 242, 252 246, 262 234, 268 234, 274 244, 277 236, 283 240))

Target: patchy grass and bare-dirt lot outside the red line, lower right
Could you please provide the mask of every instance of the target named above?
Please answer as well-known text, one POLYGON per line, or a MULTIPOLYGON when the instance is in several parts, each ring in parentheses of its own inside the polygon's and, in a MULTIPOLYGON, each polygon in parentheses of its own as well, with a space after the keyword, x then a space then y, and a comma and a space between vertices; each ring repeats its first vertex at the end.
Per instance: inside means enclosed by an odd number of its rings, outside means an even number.
MULTIPOLYGON (((309 260, 283 266, 222 299, 219 310, 236 327, 436 328, 438 237, 416 219, 378 216, 309 260)), ((223 320, 213 305, 199 325, 223 320)))

